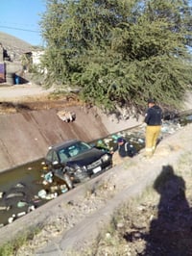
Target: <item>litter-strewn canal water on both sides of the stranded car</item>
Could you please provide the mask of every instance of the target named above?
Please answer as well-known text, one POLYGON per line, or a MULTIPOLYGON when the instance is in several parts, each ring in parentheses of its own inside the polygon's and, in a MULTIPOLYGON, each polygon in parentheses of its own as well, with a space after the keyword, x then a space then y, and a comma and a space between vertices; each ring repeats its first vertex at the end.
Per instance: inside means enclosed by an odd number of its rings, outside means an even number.
MULTIPOLYGON (((184 118, 184 122, 190 122, 191 115, 184 118), (186 121, 187 120, 187 121, 186 121)), ((181 129, 178 121, 164 121, 161 129, 160 140, 166 136, 175 133, 181 129)), ((145 127, 135 126, 107 137, 91 144, 103 143, 108 148, 116 149, 116 139, 125 137, 129 140, 139 152, 144 147, 145 127)), ((55 198, 60 193, 67 192, 66 187, 58 178, 54 178, 52 183, 47 183, 41 163, 43 159, 27 165, 12 168, 9 171, 0 174, 0 224, 1 226, 9 224, 16 218, 34 211, 37 207, 43 205, 48 200, 55 198)), ((115 163, 114 163, 115 165, 115 163)))

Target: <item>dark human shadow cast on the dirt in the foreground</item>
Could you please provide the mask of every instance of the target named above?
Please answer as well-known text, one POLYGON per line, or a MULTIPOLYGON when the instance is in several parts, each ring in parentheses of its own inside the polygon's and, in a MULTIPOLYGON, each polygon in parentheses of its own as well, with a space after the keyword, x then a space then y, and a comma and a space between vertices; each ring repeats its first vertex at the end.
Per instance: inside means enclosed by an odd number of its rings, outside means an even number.
POLYGON ((143 256, 192 255, 192 211, 185 197, 185 182, 172 166, 163 166, 154 189, 160 194, 157 217, 144 235, 143 256))

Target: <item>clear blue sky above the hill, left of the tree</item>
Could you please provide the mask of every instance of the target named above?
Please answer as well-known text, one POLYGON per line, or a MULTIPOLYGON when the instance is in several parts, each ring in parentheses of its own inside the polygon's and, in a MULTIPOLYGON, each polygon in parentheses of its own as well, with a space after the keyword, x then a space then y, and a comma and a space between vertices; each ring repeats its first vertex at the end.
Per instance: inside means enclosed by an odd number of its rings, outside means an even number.
POLYGON ((0 31, 43 46, 38 22, 45 7, 45 0, 1 0, 0 31))

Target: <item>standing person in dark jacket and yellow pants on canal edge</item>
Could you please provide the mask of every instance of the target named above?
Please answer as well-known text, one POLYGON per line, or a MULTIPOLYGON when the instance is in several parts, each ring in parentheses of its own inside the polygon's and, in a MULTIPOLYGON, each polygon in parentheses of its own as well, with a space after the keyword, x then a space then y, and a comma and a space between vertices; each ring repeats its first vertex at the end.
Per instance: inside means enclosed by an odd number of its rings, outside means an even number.
POLYGON ((156 105, 155 99, 148 100, 148 110, 145 115, 146 138, 145 138, 145 150, 146 156, 153 156, 156 150, 156 141, 160 134, 161 129, 162 110, 156 105))

